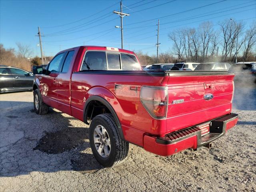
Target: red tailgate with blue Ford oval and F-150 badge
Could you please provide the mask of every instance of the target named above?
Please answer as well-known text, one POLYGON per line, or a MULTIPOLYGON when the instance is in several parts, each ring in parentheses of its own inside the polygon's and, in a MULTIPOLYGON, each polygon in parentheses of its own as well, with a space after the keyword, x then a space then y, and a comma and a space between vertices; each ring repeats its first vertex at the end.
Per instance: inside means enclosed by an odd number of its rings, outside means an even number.
POLYGON ((169 76, 166 132, 229 114, 233 78, 233 74, 214 72, 210 75, 169 76), (213 98, 207 100, 207 96, 213 98))

